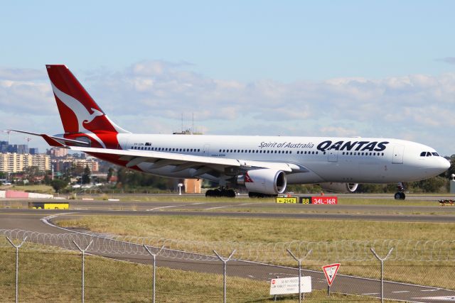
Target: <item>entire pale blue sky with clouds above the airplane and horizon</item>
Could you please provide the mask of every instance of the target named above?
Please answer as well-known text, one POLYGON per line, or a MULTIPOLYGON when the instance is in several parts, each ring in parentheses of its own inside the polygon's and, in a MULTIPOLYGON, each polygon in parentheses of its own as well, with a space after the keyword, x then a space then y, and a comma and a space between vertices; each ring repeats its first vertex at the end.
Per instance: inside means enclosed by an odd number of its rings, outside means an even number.
POLYGON ((44 65, 63 63, 131 131, 176 131, 181 112, 196 111, 205 133, 384 136, 450 155, 454 11, 454 1, 6 1, 0 128, 61 130, 44 65))

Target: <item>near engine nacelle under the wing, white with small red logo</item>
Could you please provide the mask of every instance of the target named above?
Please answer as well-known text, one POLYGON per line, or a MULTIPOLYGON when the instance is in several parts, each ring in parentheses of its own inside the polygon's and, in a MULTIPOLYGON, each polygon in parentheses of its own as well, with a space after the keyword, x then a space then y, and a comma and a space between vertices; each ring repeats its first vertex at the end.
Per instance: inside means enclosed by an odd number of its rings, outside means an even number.
POLYGON ((286 173, 269 168, 249 170, 245 175, 237 176, 237 184, 245 185, 249 192, 282 194, 286 190, 286 173))

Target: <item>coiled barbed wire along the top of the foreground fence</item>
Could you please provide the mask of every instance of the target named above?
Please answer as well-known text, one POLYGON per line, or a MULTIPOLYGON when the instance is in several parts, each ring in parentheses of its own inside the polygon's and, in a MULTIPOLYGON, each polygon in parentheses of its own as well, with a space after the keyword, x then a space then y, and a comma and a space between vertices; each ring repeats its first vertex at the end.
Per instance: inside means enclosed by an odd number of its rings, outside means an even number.
POLYGON ((277 243, 250 243, 230 241, 187 241, 159 237, 115 236, 109 234, 76 233, 40 233, 21 229, 0 229, 0 248, 11 248, 6 236, 22 240, 27 237, 24 248, 29 250, 54 251, 59 249, 76 250, 75 241, 85 247, 92 241, 87 253, 112 257, 149 253, 144 245, 153 251, 164 246, 160 258, 217 261, 213 250, 229 255, 235 250, 235 259, 261 263, 289 263, 287 249, 295 255, 306 255, 312 250, 306 261, 369 261, 375 260, 370 248, 379 254, 394 248, 390 258, 395 261, 453 261, 455 260, 455 240, 341 240, 341 241, 289 241, 277 243))

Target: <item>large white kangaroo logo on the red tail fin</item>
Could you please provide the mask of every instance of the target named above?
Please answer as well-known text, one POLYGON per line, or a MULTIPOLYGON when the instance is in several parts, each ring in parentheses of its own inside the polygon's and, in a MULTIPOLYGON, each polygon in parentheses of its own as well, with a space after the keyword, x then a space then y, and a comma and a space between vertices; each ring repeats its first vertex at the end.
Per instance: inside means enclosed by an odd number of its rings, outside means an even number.
POLYGON ((105 114, 93 108, 91 109, 93 113, 90 114, 87 108, 79 100, 71 97, 69 94, 65 94, 64 92, 60 91, 60 89, 58 89, 52 82, 50 82, 50 84, 52 85, 55 96, 57 96, 58 99, 60 99, 63 104, 68 106, 76 115, 78 126, 77 131, 79 133, 87 134, 87 136, 90 136, 90 138, 100 143, 103 148, 106 148, 105 143, 102 142, 102 140, 95 133, 92 133, 92 131, 85 128, 85 124, 92 122, 93 119, 95 119, 97 116, 105 116, 105 114))

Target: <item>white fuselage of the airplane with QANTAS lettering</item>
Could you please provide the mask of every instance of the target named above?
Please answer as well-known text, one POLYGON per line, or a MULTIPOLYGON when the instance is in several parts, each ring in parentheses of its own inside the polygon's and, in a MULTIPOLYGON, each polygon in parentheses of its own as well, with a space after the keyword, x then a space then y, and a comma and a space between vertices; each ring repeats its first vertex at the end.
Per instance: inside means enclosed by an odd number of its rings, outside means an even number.
MULTIPOLYGON (((287 175, 289 184, 319 182, 391 183, 439 175, 449 162, 427 145, 391 138, 282 136, 117 135, 123 150, 154 150, 215 158, 286 162, 302 167, 287 175), (423 155, 424 154, 424 155, 423 155)), ((165 177, 193 177, 194 168, 142 162, 144 172, 165 177)), ((200 176, 214 180, 210 175, 200 176)))

